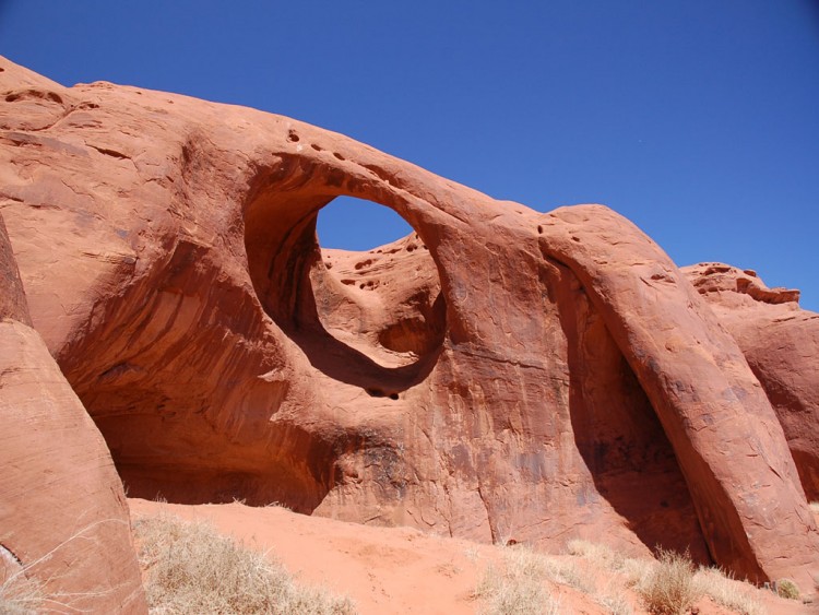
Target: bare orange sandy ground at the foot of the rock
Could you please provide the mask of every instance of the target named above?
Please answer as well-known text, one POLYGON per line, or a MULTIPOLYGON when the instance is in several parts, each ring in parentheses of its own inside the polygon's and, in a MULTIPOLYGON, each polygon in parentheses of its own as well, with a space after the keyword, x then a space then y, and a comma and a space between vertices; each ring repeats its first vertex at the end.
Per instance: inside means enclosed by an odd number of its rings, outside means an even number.
MULTIPOLYGON (((410 528, 372 528, 278 507, 253 508, 238 502, 186 506, 130 498, 131 515, 173 513, 205 519, 248 545, 269 552, 301 581, 349 595, 363 615, 418 613, 473 614, 479 610, 474 590, 499 549, 468 541, 424 534, 410 528)), ((554 586, 561 613, 607 613, 575 590, 554 586)), ((634 612, 639 602, 631 596, 634 612)), ((765 600, 771 615, 819 613, 793 601, 765 600)), ((729 613, 703 601, 701 614, 729 613)))

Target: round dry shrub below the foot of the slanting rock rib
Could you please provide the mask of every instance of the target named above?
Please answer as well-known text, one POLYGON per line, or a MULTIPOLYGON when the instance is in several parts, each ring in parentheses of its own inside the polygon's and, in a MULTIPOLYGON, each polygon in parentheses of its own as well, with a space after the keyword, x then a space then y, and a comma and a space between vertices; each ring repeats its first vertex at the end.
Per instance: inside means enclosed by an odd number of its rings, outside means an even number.
POLYGON ((685 613, 699 598, 695 568, 688 556, 661 549, 657 563, 637 584, 646 608, 657 615, 685 613))

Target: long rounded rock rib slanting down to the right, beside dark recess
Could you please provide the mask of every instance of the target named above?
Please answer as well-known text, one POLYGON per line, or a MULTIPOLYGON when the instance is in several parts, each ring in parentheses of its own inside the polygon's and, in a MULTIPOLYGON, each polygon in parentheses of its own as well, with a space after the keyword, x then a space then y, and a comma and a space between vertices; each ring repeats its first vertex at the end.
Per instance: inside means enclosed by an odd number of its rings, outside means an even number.
MULTIPOLYGON (((816 523, 779 419, 684 274, 604 208, 557 210, 538 233, 544 255, 577 272, 651 400, 714 559, 756 582, 815 566, 816 523)), ((800 581, 810 587, 807 571, 800 581)))

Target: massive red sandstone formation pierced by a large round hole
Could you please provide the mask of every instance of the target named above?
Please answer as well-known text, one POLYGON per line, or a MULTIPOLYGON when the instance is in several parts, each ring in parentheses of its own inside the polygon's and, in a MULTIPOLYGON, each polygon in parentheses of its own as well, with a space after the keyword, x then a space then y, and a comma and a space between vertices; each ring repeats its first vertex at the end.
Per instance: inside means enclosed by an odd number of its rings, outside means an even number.
POLYGON ((541 214, 288 118, 0 62, 0 206, 32 322, 131 495, 606 536, 812 587, 819 535, 771 403, 621 216, 541 214), (339 196, 414 234, 323 250, 339 196))

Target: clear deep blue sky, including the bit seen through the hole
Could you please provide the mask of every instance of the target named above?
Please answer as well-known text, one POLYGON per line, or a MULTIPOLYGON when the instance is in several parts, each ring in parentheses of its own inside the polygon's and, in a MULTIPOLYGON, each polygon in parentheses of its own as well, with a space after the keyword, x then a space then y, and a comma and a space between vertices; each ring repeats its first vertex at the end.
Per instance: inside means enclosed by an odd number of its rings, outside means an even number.
MULTIPOLYGON (((678 264, 819 311, 819 3, 0 0, 0 54, 343 132, 539 211, 605 203, 678 264)), ((329 206, 322 245, 402 235, 329 206)))

